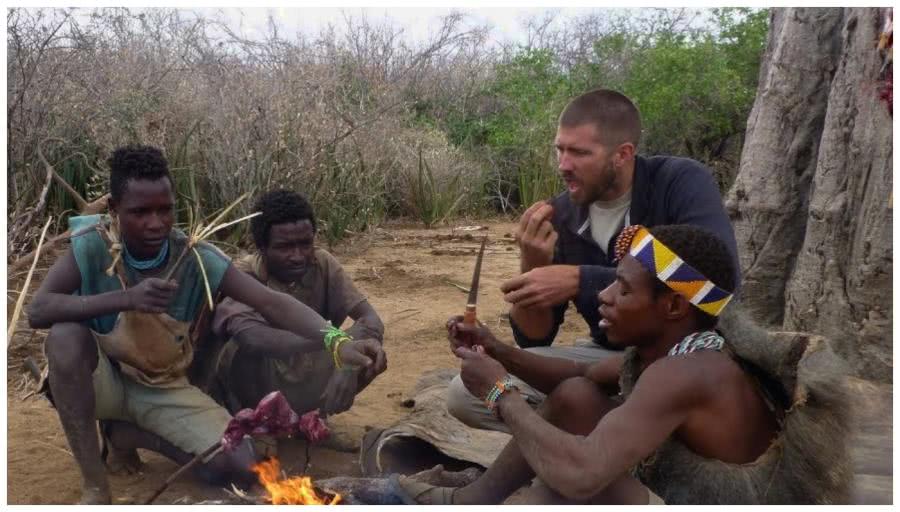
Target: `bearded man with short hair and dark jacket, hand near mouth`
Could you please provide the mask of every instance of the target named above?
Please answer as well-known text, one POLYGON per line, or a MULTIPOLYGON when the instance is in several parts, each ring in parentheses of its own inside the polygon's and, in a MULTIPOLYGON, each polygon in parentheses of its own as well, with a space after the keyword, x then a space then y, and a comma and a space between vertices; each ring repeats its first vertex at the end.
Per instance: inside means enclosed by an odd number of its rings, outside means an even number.
MULTIPOLYGON (((615 280, 613 245, 626 226, 706 228, 725 242, 740 268, 734 231, 709 170, 688 158, 638 156, 640 134, 637 108, 611 90, 585 93, 560 115, 555 145, 567 190, 522 215, 516 232, 522 274, 502 286, 520 347, 587 363, 618 353, 598 325, 597 294, 615 280), (569 301, 588 324, 590 338, 551 346, 569 301)), ((524 382, 516 384, 532 405, 544 399, 524 382)), ((459 377, 450 383, 447 408, 472 427, 508 431, 459 377)))

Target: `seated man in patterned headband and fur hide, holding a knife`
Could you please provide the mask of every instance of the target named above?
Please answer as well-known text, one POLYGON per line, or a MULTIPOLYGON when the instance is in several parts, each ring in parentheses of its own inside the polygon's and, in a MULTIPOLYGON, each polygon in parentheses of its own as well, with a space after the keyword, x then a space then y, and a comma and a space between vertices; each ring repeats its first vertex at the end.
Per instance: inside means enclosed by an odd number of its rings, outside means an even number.
POLYGON ((451 319, 463 383, 513 439, 474 483, 401 477, 400 494, 501 503, 537 476, 527 503, 646 504, 647 488, 668 504, 846 502, 849 401, 823 340, 733 315, 733 260, 706 230, 634 227, 617 245, 600 327, 624 355, 541 357, 451 319), (537 411, 507 372, 547 393, 537 411))

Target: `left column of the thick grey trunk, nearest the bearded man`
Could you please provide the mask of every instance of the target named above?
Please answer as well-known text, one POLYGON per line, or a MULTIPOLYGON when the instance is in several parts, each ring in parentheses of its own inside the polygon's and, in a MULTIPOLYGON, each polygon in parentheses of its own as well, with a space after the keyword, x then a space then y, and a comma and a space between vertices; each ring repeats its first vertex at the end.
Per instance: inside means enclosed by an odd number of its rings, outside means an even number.
POLYGON ((756 101, 726 208, 741 300, 782 324, 784 291, 806 227, 807 194, 839 49, 841 9, 773 9, 756 101))

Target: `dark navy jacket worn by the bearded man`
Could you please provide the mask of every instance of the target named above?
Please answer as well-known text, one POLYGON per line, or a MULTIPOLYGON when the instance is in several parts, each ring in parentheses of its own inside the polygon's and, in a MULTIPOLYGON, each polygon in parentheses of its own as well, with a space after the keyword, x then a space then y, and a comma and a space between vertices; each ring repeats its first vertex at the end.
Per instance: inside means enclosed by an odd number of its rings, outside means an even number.
MULTIPOLYGON (((575 309, 587 322, 591 338, 607 346, 606 335, 597 326, 597 294, 615 280, 616 267, 612 262, 616 236, 609 247, 600 247, 591 237, 588 205, 572 203, 568 192, 556 196, 553 204, 553 227, 559 234, 553 263, 579 265, 581 281, 578 295, 572 299, 575 309)), ((672 156, 635 157, 631 207, 626 220, 629 224, 646 227, 664 224, 692 224, 717 234, 731 250, 735 269, 740 272, 734 230, 722 206, 719 188, 712 173, 700 162, 672 156)), ((738 288, 740 274, 738 274, 738 288)), ((531 339, 522 334, 512 322, 513 336, 520 347, 546 346, 553 343, 568 302, 554 308, 554 326, 544 339, 531 339)))

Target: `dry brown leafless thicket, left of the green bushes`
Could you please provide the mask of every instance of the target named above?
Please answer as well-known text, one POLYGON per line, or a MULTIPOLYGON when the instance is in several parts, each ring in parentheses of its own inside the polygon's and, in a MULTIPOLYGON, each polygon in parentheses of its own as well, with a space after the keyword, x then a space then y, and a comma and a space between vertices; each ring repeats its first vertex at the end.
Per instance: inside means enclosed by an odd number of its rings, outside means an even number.
MULTIPOLYGON (((7 28, 11 219, 43 184, 34 148, 56 137, 64 142, 48 159, 74 166, 66 179, 84 195, 102 188, 112 149, 152 144, 167 155, 179 198, 201 210, 288 187, 313 200, 327 238, 339 239, 412 213, 392 187, 404 186, 398 177, 420 145, 414 107, 429 96, 464 99, 473 73, 451 80, 452 66, 486 62, 473 58, 484 33, 459 14, 420 44, 351 17, 314 38, 285 38, 272 23, 250 40, 174 9, 11 9, 7 28)), ((443 151, 442 165, 463 166, 446 141, 426 146, 443 151)), ((27 240, 10 241, 11 256, 27 240)))

